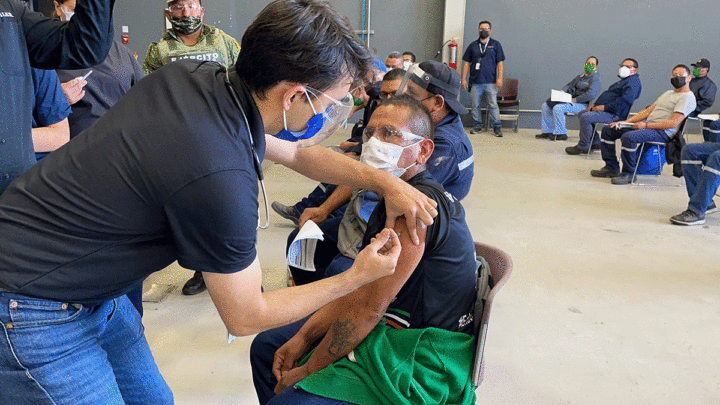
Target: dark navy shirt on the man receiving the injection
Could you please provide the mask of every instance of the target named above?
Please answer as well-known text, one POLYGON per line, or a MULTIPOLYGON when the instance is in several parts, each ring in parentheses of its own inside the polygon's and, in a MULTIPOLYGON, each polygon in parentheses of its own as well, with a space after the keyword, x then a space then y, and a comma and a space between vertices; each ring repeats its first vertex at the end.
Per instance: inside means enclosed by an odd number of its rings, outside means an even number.
MULTIPOLYGON (((472 334, 477 266, 465 211, 428 171, 408 183, 437 201, 438 215, 427 228, 420 263, 390 303, 385 319, 398 329, 435 327, 472 334)), ((386 218, 383 200, 370 216, 363 246, 382 230, 386 218)))

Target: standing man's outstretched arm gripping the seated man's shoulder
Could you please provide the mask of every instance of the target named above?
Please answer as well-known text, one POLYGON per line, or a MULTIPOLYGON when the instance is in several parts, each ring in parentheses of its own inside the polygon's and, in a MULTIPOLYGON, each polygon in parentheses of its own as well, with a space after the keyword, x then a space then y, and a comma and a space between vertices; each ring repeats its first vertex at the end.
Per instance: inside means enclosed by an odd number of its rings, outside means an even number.
POLYGON ((386 200, 388 221, 392 228, 395 218, 404 215, 411 239, 417 244, 417 228, 432 225, 437 203, 403 180, 381 170, 350 159, 321 146, 298 148, 291 142, 272 135, 265 136, 265 157, 289 167, 311 179, 330 184, 361 187, 374 191, 386 200))

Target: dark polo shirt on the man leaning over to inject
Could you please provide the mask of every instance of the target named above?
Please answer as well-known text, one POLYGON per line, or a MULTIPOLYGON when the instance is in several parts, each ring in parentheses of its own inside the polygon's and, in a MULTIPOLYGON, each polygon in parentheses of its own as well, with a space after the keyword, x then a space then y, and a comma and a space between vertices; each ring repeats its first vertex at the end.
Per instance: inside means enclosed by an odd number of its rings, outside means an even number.
MULTIPOLYGON (((255 259, 250 140, 212 62, 169 64, 0 196, 0 286, 97 305, 177 260, 232 273, 255 259)), ((236 92, 258 155, 260 113, 236 92)))

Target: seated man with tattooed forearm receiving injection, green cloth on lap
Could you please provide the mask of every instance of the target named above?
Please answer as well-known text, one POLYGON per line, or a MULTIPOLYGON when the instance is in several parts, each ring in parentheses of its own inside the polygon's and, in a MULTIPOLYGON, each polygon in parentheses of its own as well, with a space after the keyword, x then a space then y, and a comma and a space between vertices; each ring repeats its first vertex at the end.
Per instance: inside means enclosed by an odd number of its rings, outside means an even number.
MULTIPOLYGON (((475 251, 462 206, 424 166, 434 147, 429 112, 418 101, 398 96, 377 108, 366 135, 361 160, 434 198, 438 215, 419 231, 417 246, 405 222, 396 223, 402 250, 392 276, 333 301, 307 320, 255 338, 250 352, 260 403, 395 404, 408 392, 393 382, 408 379, 422 387, 409 395, 426 403, 442 398, 474 403, 469 379, 474 339, 469 334, 475 251), (396 355, 382 354, 388 352, 396 355), (434 367, 444 370, 441 380, 428 372, 434 367)), ((382 229, 384 217, 381 201, 361 245, 382 229)))

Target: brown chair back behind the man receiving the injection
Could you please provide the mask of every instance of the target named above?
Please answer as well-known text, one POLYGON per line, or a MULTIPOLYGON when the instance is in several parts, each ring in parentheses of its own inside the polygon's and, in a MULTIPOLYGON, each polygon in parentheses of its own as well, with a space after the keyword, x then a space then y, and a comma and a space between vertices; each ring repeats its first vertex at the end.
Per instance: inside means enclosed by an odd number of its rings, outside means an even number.
MULTIPOLYGON (((478 330, 476 331, 477 342, 475 346, 475 356, 473 358, 473 369, 472 369, 472 384, 474 388, 477 388, 482 383, 485 363, 483 361, 483 352, 485 350, 485 339, 487 336, 488 321, 490 320, 490 309, 492 308, 492 302, 497 294, 498 290, 505 285, 510 274, 512 273, 512 259, 510 256, 502 250, 486 245, 484 243, 475 242, 475 254, 482 256, 490 267, 490 278, 492 282, 492 289, 485 299, 482 318, 479 323, 478 330)), ((483 305, 482 299, 478 299, 475 305, 483 305)))

